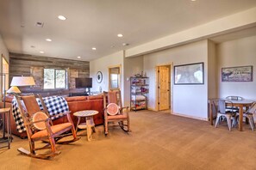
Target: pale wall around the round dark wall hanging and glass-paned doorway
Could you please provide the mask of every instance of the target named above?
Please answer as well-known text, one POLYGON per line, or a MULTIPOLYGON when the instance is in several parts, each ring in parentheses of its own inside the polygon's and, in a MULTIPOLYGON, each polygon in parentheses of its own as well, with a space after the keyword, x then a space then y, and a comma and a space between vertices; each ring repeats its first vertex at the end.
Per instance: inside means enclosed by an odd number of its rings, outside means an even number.
POLYGON ((100 86, 103 91, 109 91, 109 67, 115 65, 121 65, 121 90, 123 91, 123 52, 116 52, 90 62, 90 77, 92 77, 91 91, 99 91, 100 86), (101 83, 97 83, 96 81, 97 71, 102 71, 103 73, 103 82, 101 83))

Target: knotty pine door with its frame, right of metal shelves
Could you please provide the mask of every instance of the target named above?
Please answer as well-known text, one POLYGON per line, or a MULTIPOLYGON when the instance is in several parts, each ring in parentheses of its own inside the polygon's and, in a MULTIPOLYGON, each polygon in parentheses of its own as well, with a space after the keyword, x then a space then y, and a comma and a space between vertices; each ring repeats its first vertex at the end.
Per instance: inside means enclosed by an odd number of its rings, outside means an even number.
POLYGON ((156 67, 157 111, 172 113, 172 64, 156 67))

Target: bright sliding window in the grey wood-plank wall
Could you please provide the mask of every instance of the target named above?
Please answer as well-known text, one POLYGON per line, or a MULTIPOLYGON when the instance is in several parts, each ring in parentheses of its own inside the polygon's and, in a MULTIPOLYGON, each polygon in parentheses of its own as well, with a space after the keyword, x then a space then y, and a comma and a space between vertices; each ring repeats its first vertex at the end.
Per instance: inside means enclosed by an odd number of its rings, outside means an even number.
POLYGON ((44 89, 66 88, 66 70, 44 69, 44 89))

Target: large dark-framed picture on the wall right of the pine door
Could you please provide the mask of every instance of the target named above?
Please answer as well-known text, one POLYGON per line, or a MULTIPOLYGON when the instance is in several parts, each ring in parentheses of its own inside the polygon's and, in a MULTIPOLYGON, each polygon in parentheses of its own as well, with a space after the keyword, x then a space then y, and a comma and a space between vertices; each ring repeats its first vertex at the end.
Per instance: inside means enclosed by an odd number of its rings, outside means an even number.
POLYGON ((184 64, 174 66, 174 84, 203 84, 203 62, 196 64, 184 64))

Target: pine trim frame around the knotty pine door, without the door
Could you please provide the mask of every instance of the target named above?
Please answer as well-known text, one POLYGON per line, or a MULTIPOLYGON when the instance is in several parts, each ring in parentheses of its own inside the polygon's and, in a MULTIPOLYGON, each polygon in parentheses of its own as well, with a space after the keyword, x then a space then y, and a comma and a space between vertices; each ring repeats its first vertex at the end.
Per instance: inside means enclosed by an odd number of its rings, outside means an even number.
POLYGON ((173 113, 173 63, 166 63, 166 64, 158 64, 155 66, 155 110, 159 111, 159 74, 158 70, 160 66, 169 66, 170 67, 170 113, 173 113))

